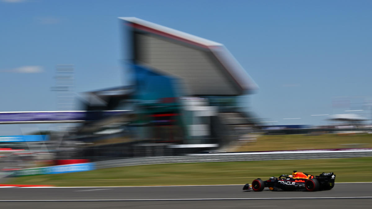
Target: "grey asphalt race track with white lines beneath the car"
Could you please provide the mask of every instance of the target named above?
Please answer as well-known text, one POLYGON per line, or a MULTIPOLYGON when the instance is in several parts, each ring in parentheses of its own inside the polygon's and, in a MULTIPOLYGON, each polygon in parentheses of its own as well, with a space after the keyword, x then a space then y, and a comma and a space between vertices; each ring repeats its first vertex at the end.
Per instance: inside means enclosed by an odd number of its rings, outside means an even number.
POLYGON ((243 185, 0 188, 3 208, 370 208, 372 183, 319 192, 252 192, 243 185))

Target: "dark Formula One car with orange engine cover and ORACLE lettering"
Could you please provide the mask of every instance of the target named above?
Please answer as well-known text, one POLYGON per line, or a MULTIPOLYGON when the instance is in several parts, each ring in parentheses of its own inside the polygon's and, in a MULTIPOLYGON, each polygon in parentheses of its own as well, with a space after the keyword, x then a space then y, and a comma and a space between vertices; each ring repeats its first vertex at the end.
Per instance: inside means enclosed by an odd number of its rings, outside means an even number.
POLYGON ((319 176, 312 176, 307 173, 293 171, 292 175, 281 175, 279 178, 270 177, 263 181, 255 179, 252 184, 246 184, 243 190, 252 189, 255 192, 261 192, 265 187, 273 191, 308 191, 330 190, 334 187, 333 173, 321 173, 319 176))

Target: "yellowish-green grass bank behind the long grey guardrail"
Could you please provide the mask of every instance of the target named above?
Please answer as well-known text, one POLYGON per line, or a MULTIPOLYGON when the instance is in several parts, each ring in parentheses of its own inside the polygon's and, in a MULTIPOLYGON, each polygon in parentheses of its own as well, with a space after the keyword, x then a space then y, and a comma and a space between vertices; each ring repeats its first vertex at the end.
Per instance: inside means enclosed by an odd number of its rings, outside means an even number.
POLYGON ((257 141, 246 142, 232 151, 267 151, 297 149, 341 149, 371 148, 372 134, 297 134, 297 135, 262 135, 257 141))

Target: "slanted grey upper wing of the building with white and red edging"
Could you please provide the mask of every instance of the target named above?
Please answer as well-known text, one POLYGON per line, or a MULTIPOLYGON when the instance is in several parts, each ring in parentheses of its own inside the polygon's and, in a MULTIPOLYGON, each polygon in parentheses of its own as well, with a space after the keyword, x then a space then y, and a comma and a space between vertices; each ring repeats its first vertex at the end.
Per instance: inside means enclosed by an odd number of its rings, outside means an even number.
POLYGON ((241 95, 256 83, 224 45, 136 17, 119 17, 132 35, 132 59, 181 78, 186 94, 241 95))

